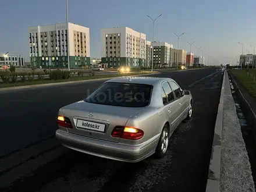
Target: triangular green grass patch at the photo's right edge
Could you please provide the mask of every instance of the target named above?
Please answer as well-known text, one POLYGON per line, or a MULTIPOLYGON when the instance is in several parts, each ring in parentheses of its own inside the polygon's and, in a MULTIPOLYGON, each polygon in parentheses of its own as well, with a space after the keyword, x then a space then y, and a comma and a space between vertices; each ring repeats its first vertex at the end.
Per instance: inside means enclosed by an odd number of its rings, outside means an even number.
POLYGON ((230 70, 237 80, 256 98, 256 69, 230 70))

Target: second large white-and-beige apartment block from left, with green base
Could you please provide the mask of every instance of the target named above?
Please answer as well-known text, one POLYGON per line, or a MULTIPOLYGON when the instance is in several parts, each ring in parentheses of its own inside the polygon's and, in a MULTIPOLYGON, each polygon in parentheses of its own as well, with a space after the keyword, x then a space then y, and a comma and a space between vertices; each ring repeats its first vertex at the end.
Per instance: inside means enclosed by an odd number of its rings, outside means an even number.
POLYGON ((101 61, 108 67, 146 65, 146 35, 128 27, 101 30, 101 61))

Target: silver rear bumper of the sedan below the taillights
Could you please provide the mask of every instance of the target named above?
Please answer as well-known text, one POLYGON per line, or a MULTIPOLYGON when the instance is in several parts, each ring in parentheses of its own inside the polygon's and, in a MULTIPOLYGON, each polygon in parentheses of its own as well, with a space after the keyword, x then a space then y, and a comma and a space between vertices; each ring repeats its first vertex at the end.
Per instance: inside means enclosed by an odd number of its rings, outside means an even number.
POLYGON ((66 131, 57 130, 56 138, 62 145, 72 150, 84 152, 102 158, 125 162, 139 162, 154 154, 159 135, 140 145, 127 145, 95 138, 79 136, 66 131))

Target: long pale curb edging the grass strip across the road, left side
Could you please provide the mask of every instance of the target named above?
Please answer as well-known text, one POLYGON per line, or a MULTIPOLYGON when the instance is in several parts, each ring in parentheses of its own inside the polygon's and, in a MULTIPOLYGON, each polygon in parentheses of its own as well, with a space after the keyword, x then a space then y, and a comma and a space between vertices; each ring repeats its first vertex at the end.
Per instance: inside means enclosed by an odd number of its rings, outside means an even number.
MULTIPOLYGON (((147 76, 150 74, 157 74, 159 72, 155 73, 147 73, 147 74, 134 74, 130 76, 116 76, 116 77, 132 77, 132 76, 147 76)), ((108 79, 114 79, 116 77, 105 77, 105 78, 99 78, 99 79, 87 79, 87 80, 77 80, 77 81, 66 81, 66 82, 59 82, 59 83, 44 83, 44 84, 35 84, 31 86, 16 86, 16 87, 5 87, 5 88, 0 88, 1 91, 9 91, 9 90, 20 90, 23 88, 35 88, 35 87, 49 87, 49 86, 59 86, 63 84, 75 84, 75 83, 86 83, 90 81, 101 81, 101 80, 108 80, 108 79)))

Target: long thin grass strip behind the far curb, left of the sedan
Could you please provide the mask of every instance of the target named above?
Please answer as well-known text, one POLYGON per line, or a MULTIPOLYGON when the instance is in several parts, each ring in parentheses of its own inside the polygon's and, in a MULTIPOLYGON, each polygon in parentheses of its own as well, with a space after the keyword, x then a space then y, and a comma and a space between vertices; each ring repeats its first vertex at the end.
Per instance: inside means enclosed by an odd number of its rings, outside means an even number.
MULTIPOLYGON (((17 87, 17 86, 31 86, 35 84, 48 84, 48 83, 61 83, 67 81, 80 81, 80 80, 89 80, 89 79, 102 79, 102 78, 111 78, 111 77, 122 77, 122 76, 133 76, 136 74, 148 74, 151 72, 135 72, 135 73, 125 73, 125 74, 104 74, 104 75, 96 75, 96 76, 84 76, 84 77, 70 77, 69 79, 58 79, 58 80, 33 80, 33 81, 25 81, 25 82, 17 82, 17 83, 0 83, 0 88, 5 87, 17 87)), ((153 72, 155 73, 155 72, 153 72)))

